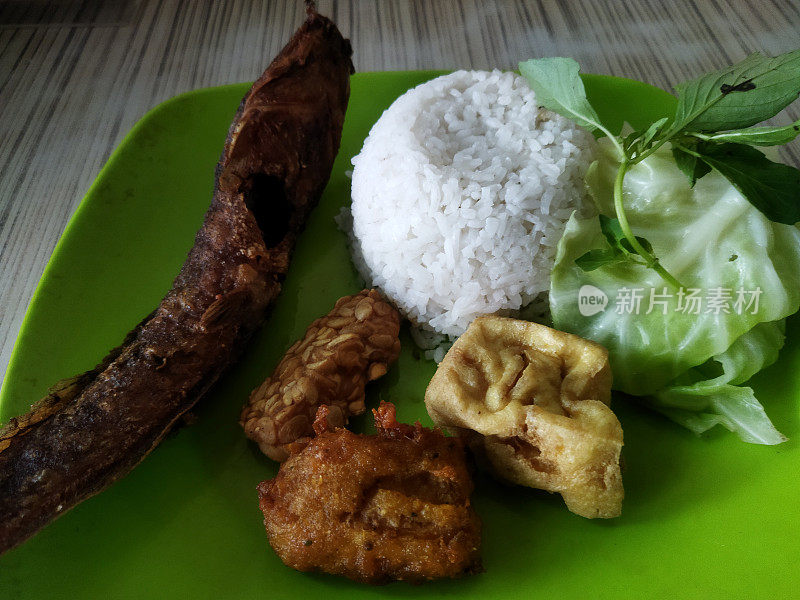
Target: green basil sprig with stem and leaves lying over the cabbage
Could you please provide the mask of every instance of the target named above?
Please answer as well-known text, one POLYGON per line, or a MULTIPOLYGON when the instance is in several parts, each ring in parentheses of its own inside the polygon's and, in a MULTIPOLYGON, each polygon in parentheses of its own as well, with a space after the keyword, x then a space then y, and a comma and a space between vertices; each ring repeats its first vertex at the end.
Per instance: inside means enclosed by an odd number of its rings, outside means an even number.
POLYGON ((800 121, 785 127, 752 127, 775 116, 800 95, 800 50, 774 58, 752 54, 735 65, 678 84, 675 115, 624 138, 603 127, 586 98, 580 66, 573 59, 533 59, 521 62, 519 69, 542 106, 607 136, 619 153, 614 183, 616 219, 600 215, 609 247, 579 257, 576 263, 582 269, 633 260, 658 272, 673 287, 681 287, 659 263, 647 240, 633 234, 622 195, 628 170, 667 142, 692 185, 713 169, 770 220, 800 221, 800 171, 769 160, 755 148, 791 142, 800 134, 800 121))

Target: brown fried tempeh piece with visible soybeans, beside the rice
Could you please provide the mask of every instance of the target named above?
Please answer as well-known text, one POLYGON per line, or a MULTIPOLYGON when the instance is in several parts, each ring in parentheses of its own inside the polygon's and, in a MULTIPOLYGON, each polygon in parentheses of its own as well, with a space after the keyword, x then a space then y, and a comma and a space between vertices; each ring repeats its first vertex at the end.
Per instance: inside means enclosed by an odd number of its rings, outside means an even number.
POLYGON ((366 410, 364 387, 386 373, 400 354, 400 315, 375 290, 340 298, 311 323, 242 410, 245 434, 273 460, 287 444, 310 436, 317 408, 344 426, 366 410))

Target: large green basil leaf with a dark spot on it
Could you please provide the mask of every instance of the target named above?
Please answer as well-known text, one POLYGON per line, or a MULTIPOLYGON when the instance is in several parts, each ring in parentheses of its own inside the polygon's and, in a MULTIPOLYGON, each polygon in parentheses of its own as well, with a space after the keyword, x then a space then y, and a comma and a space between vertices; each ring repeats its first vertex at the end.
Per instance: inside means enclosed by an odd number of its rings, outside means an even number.
POLYGON ((759 53, 675 86, 674 130, 740 129, 769 119, 800 94, 800 50, 775 58, 759 53))

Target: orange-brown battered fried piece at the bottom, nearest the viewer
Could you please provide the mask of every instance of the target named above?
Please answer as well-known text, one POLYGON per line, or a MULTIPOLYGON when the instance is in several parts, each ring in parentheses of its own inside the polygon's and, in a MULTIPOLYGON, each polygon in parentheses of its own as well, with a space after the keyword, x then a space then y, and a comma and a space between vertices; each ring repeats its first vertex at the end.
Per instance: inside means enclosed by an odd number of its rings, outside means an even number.
POLYGON ((480 571, 462 442, 398 423, 387 403, 373 411, 377 435, 330 431, 327 410, 315 420, 319 435, 258 486, 281 560, 372 584, 480 571))

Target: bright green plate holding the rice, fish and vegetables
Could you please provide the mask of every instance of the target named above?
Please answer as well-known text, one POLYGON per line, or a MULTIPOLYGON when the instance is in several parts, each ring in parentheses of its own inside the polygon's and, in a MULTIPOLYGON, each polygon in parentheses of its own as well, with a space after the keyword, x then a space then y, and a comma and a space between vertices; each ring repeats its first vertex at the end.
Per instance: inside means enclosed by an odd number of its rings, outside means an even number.
MULTIPOLYGON (((625 431, 623 515, 589 521, 559 496, 479 476, 486 572, 382 588, 285 567, 267 544, 255 487, 276 466, 237 423, 248 393, 308 323, 359 289, 334 216, 345 172, 372 123, 438 73, 363 73, 320 207, 300 239, 275 311, 245 358, 133 473, 0 557, 0 598, 790 597, 800 549, 798 344, 753 382, 790 440, 775 447, 703 438, 618 400, 625 431)), ((587 76, 610 126, 666 115, 645 84, 587 76)), ((214 165, 247 85, 192 92, 147 114, 116 150, 59 242, 36 291, 0 396, 0 421, 60 378, 92 367, 169 289, 211 198, 214 165)), ((797 340, 797 319, 789 339, 797 340)), ((399 363, 368 394, 429 424, 434 364, 403 337, 399 363)), ((367 419, 356 420, 366 427, 367 419)))

